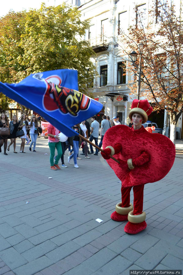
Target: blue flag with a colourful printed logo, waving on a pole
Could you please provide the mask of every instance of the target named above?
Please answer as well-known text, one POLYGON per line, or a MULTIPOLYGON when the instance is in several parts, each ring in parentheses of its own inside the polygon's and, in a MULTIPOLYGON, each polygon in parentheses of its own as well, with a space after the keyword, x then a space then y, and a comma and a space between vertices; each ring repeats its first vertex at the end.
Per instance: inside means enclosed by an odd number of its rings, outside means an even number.
POLYGON ((100 112, 100 102, 78 91, 76 70, 61 69, 27 76, 17 84, 0 82, 0 92, 34 110, 66 136, 71 127, 100 112))

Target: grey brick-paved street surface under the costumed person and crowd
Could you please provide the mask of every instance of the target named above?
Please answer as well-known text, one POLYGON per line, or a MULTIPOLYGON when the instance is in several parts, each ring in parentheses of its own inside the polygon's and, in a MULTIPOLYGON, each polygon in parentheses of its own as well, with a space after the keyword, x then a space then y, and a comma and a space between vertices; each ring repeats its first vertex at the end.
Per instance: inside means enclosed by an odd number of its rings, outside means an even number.
POLYGON ((46 139, 38 139, 36 153, 28 146, 25 151, 13 154, 11 146, 8 156, 3 148, 0 154, 0 274, 115 275, 129 274, 130 269, 182 269, 180 152, 163 180, 145 185, 146 230, 127 235, 126 222, 110 218, 120 201, 120 183, 101 156, 81 156, 79 169, 71 161, 68 168, 52 171, 46 139))

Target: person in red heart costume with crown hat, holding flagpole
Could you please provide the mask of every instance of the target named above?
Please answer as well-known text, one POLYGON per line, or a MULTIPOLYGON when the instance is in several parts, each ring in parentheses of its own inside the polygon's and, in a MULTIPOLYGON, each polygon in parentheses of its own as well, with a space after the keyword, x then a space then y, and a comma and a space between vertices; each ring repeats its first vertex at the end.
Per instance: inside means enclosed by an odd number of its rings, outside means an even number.
POLYGON ((128 234, 137 234, 147 226, 143 212, 144 185, 165 177, 175 159, 175 146, 170 139, 161 134, 152 135, 142 126, 152 110, 147 100, 134 99, 129 113, 134 124, 132 128, 114 126, 108 129, 103 139, 105 149, 101 155, 122 183, 122 201, 116 204, 111 218, 128 221, 124 228, 128 234), (119 164, 109 155, 116 155, 119 164), (132 187, 134 206, 130 203, 132 187))

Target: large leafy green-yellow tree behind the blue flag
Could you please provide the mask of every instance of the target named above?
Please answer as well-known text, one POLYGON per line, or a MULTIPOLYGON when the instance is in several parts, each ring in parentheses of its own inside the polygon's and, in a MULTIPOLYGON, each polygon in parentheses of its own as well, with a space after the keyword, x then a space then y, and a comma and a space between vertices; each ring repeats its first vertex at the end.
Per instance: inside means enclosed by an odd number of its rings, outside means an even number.
POLYGON ((90 61, 94 52, 82 40, 88 27, 78 9, 66 4, 9 12, 0 19, 0 81, 15 83, 35 72, 76 69, 79 91, 87 94, 87 79, 95 74, 90 61))

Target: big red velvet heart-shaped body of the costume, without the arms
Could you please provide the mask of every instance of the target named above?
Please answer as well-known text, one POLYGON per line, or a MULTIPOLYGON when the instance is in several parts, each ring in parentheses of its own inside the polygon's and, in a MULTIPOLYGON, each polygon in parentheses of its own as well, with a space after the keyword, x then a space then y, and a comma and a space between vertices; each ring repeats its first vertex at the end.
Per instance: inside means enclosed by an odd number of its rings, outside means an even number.
MULTIPOLYGON (((143 127, 143 126, 142 126, 143 127)), ((112 158, 107 162, 121 180, 123 187, 129 187, 161 180, 170 171, 175 159, 175 146, 169 138, 161 134, 132 132, 128 126, 116 125, 108 129, 104 135, 103 148, 122 145, 122 151, 114 157, 123 161, 136 158, 143 151, 150 154, 150 160, 130 170, 127 164, 118 164, 112 158)))

